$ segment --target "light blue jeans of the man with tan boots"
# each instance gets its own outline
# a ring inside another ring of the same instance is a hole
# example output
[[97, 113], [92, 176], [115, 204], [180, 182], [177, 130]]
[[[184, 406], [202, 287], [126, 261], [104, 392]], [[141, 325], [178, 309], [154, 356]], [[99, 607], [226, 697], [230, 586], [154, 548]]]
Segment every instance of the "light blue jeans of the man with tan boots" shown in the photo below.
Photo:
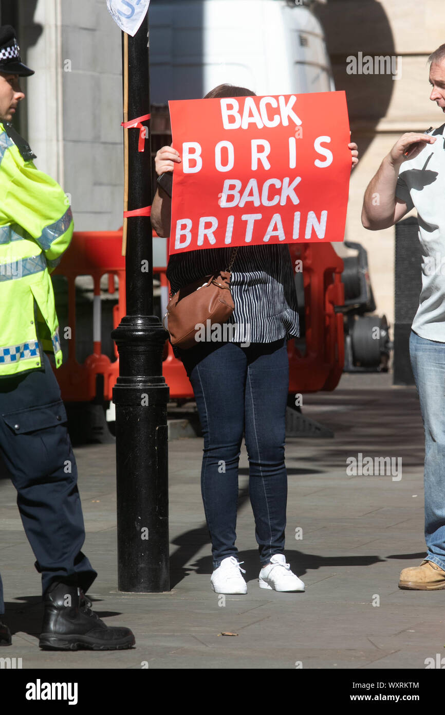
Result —
[[425, 428], [426, 558], [445, 570], [445, 343], [411, 330], [409, 354]]

